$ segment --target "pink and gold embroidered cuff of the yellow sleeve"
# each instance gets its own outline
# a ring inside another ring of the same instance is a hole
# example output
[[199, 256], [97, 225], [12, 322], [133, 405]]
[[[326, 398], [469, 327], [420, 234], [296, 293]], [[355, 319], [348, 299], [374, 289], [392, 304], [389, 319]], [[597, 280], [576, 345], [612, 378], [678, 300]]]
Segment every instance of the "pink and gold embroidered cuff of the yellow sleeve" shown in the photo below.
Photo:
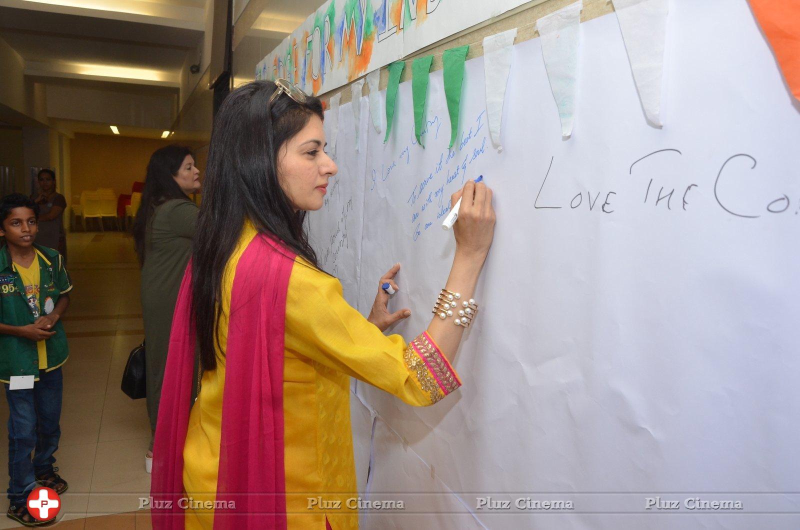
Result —
[[439, 351], [434, 339], [422, 332], [406, 347], [406, 367], [434, 404], [461, 386], [461, 379]]

